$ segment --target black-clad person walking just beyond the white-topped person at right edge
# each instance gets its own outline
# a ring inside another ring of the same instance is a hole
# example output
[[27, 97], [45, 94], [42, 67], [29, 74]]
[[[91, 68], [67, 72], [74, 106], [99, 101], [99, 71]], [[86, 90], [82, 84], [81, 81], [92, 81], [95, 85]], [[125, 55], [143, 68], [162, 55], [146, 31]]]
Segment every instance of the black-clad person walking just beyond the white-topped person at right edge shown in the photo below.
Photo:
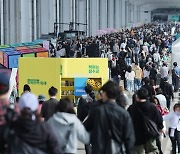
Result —
[[162, 87], [163, 95], [166, 97], [167, 108], [170, 109], [171, 98], [174, 99], [172, 85], [168, 83], [168, 77], [164, 78], [164, 84]]

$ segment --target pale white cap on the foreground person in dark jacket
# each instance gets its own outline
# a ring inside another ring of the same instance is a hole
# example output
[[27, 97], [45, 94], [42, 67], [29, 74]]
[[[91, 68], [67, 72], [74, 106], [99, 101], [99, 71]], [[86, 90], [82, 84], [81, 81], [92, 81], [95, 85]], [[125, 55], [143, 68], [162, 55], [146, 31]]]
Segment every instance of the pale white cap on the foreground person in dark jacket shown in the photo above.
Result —
[[36, 95], [27, 92], [24, 93], [19, 99], [19, 107], [21, 110], [24, 108], [29, 108], [31, 111], [36, 111], [38, 108], [39, 102]]

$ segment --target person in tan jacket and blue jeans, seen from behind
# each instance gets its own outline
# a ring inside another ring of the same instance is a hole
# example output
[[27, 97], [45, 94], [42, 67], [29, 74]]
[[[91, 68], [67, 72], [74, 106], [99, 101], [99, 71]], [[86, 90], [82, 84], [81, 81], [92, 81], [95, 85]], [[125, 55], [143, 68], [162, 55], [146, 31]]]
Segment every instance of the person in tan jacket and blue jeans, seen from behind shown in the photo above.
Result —
[[135, 72], [134, 91], [137, 91], [141, 88], [142, 81], [142, 69], [138, 66], [138, 63], [135, 63], [133, 71]]

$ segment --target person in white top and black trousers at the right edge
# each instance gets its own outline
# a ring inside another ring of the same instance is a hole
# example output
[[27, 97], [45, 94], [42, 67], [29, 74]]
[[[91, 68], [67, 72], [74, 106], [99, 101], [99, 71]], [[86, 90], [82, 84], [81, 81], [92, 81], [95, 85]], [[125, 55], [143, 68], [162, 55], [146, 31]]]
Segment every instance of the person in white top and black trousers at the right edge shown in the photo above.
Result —
[[169, 121], [169, 137], [172, 143], [172, 154], [176, 154], [176, 145], [180, 153], [180, 103], [174, 105], [174, 112], [163, 116], [163, 120]]

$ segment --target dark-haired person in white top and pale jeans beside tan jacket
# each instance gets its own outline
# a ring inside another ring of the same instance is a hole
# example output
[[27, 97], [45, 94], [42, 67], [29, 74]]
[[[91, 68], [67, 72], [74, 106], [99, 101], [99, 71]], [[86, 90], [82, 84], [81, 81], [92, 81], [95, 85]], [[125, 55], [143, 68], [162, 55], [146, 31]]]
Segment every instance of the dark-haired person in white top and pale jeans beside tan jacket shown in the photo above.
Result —
[[127, 81], [127, 89], [131, 94], [134, 89], [134, 78], [135, 78], [135, 73], [134, 71], [132, 71], [131, 66], [128, 66], [128, 70], [125, 73], [125, 78]]

